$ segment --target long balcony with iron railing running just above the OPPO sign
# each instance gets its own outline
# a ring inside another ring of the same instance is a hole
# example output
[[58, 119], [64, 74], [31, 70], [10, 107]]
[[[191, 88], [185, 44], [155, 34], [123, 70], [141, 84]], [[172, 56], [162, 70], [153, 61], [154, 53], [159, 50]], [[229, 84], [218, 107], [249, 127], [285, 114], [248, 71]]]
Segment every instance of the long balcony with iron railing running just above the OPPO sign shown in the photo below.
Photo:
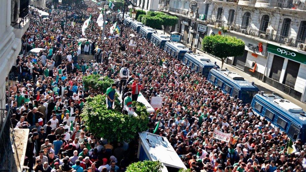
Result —
[[271, 33], [260, 31], [254, 28], [241, 27], [238, 25], [234, 25], [231, 28], [235, 32], [239, 32], [239, 33], [250, 35], [250, 36], [255, 36], [257, 38], [265, 39], [268, 41], [273, 41], [279, 44], [287, 45], [289, 47], [297, 48], [299, 50], [303, 50], [303, 51], [306, 50], [305, 49], [306, 42], [302, 40], [297, 40], [294, 38], [281, 36], [277, 34], [271, 34]]

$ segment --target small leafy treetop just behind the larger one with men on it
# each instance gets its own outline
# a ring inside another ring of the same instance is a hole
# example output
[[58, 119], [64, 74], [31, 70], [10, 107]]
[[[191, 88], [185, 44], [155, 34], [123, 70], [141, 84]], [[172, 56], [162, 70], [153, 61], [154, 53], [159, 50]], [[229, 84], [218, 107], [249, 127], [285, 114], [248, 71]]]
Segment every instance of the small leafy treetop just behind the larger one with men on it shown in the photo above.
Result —
[[114, 80], [100, 75], [83, 76], [82, 81], [86, 90], [93, 89], [98, 94], [105, 93], [107, 88], [114, 83]]

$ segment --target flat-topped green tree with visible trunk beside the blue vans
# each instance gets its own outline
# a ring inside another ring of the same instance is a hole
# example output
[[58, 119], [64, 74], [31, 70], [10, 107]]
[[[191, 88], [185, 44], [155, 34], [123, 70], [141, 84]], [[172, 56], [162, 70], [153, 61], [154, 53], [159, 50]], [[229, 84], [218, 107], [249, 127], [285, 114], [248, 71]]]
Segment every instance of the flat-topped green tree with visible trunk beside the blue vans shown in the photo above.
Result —
[[244, 48], [243, 40], [230, 35], [209, 35], [205, 36], [202, 41], [202, 50], [221, 59], [221, 69], [225, 58], [243, 55]]

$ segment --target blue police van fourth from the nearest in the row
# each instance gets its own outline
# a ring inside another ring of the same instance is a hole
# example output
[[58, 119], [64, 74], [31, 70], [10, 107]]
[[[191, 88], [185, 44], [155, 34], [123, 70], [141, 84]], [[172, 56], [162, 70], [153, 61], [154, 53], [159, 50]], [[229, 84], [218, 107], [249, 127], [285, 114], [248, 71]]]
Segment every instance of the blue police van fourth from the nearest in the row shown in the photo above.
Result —
[[183, 59], [185, 53], [191, 52], [185, 45], [172, 41], [165, 43], [164, 50], [179, 60]]

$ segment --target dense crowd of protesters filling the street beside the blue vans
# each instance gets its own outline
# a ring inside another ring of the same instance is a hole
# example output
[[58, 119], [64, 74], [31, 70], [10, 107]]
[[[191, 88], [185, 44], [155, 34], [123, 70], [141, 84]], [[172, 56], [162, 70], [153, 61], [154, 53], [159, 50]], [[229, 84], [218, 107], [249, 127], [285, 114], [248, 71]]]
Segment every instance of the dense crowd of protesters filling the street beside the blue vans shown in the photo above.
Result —
[[[113, 86], [132, 101], [137, 101], [140, 92], [148, 102], [152, 96], [163, 97], [162, 107], [148, 117], [148, 131], [153, 133], [159, 125], [156, 134], [169, 140], [192, 172], [304, 171], [306, 147], [300, 139], [294, 142], [296, 152], [288, 154], [287, 134], [253, 114], [250, 104], [224, 93], [129, 27], [121, 28], [122, 37], [110, 34], [108, 28], [121, 22], [116, 13], [107, 15], [107, 39], [101, 41], [95, 23], [98, 6], [85, 2], [71, 5], [67, 18], [58, 4], [46, 5], [49, 19], [30, 9], [22, 54], [9, 76], [17, 83], [7, 91], [13, 127], [30, 129], [29, 171], [121, 172], [137, 161], [137, 139], [108, 142], [84, 125], [80, 113], [85, 98], [97, 95], [82, 83], [82, 77], [91, 74], [114, 79]], [[93, 22], [83, 36], [88, 9], [94, 9]], [[80, 38], [84, 39], [79, 45]], [[136, 46], [128, 46], [131, 39]], [[28, 53], [33, 48], [44, 50]], [[80, 53], [94, 58], [80, 59]], [[214, 129], [231, 133], [229, 142], [214, 139]]]

